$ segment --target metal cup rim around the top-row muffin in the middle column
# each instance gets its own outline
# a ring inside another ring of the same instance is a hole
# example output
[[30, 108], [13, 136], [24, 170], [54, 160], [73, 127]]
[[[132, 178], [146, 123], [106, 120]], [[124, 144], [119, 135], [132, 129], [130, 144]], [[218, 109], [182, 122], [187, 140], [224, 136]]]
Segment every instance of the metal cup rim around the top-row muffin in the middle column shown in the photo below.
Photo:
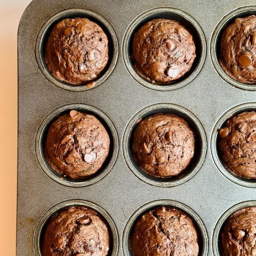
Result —
[[[188, 71], [183, 77], [171, 83], [154, 84], [146, 80], [137, 72], [132, 60], [132, 44], [135, 32], [146, 22], [156, 18], [176, 20], [191, 32], [195, 40], [197, 57], [193, 63], [193, 66], [191, 67], [190, 71]], [[185, 86], [198, 75], [205, 60], [206, 41], [201, 27], [194, 18], [181, 10], [161, 7], [148, 10], [133, 20], [132, 24], [125, 32], [122, 51], [123, 60], [127, 70], [135, 80], [142, 84], [142, 86], [158, 91], [170, 91]]]

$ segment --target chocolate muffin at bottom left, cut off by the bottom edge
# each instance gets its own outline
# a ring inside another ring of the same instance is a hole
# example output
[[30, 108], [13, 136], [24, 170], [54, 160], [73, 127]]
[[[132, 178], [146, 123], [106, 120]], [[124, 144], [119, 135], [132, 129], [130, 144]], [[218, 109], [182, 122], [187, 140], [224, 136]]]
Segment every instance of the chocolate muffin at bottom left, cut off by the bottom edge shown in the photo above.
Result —
[[86, 207], [68, 207], [55, 214], [42, 236], [44, 256], [105, 256], [110, 234], [104, 220]]

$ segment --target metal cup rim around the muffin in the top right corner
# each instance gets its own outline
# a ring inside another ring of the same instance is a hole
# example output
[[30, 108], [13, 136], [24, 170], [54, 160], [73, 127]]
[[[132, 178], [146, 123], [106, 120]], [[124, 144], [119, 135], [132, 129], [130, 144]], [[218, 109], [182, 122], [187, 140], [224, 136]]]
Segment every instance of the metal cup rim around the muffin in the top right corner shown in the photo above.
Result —
[[211, 44], [210, 44], [210, 54], [211, 54], [211, 60], [214, 63], [214, 67], [219, 73], [219, 75], [225, 79], [228, 83], [230, 83], [232, 86], [235, 86], [237, 88], [247, 90], [247, 91], [255, 91], [256, 90], [256, 83], [242, 83], [237, 80], [234, 80], [231, 78], [221, 67], [220, 61], [219, 61], [219, 47], [220, 47], [220, 39], [223, 30], [233, 22], [234, 19], [238, 17], [246, 17], [249, 15], [256, 15], [256, 6], [245, 6], [242, 8], [239, 8], [237, 10], [234, 10], [227, 14], [221, 22], [217, 25], [214, 34], [212, 34], [211, 38]]

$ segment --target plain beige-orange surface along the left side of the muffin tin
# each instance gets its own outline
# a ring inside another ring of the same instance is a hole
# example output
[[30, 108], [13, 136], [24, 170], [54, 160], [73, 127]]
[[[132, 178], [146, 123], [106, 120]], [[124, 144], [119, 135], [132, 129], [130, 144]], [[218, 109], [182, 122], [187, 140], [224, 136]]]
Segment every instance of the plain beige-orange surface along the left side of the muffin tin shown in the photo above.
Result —
[[0, 255], [15, 255], [17, 180], [17, 29], [30, 0], [0, 0]]

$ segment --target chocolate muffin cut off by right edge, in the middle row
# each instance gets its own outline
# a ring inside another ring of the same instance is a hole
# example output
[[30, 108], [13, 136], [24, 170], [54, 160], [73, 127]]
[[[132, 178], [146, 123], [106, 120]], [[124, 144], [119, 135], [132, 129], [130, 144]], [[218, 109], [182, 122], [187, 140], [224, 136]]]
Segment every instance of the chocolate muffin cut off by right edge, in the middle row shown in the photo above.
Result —
[[256, 178], [256, 113], [243, 112], [227, 120], [219, 130], [219, 155], [229, 171]]

